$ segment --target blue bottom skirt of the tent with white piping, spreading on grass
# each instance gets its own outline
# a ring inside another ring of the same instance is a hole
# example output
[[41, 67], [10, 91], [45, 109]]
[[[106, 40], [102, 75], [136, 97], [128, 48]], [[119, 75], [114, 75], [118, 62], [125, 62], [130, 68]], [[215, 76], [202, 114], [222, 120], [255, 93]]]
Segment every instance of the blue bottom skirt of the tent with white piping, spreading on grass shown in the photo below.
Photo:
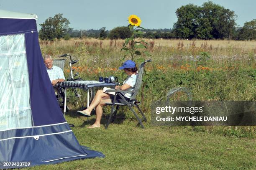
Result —
[[34, 166], [104, 157], [101, 152], [80, 146], [67, 123], [7, 130], [1, 140], [0, 168], [13, 168], [4, 166], [4, 162], [29, 162]]

